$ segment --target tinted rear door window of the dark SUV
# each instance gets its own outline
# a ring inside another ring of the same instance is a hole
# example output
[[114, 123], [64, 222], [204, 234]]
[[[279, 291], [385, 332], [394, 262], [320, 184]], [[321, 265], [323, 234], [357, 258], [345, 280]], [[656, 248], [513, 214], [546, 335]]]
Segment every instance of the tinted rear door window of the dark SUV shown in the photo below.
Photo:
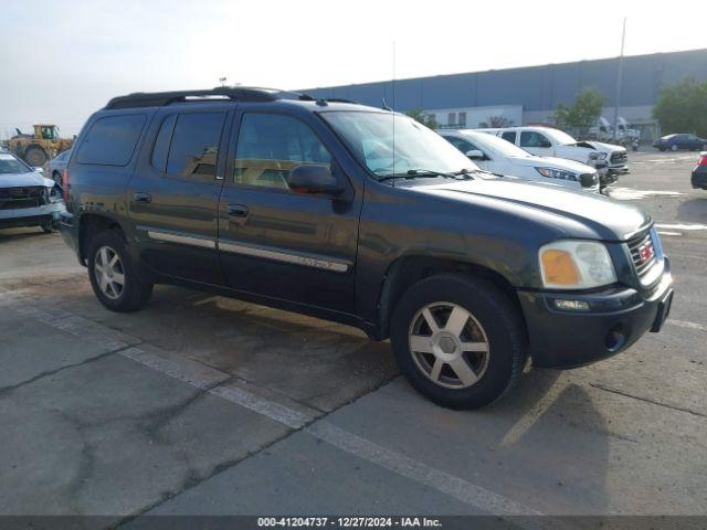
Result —
[[169, 147], [167, 174], [215, 176], [224, 118], [224, 113], [180, 114]]

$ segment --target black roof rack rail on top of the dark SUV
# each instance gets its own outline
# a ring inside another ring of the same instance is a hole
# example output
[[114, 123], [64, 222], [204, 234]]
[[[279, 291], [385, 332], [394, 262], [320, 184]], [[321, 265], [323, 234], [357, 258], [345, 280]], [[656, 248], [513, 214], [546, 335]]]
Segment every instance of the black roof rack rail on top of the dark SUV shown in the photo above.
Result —
[[127, 96], [117, 96], [108, 102], [106, 109], [131, 107], [162, 107], [178, 102], [186, 102], [190, 97], [204, 98], [224, 97], [238, 102], [274, 102], [278, 99], [278, 91], [251, 87], [217, 87], [201, 91], [177, 92], [136, 92]]

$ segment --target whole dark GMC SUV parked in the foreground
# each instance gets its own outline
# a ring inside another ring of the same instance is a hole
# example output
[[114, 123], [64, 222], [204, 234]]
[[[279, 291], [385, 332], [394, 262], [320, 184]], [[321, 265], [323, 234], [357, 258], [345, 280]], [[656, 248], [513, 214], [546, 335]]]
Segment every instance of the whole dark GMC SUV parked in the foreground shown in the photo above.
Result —
[[62, 232], [108, 309], [170, 283], [348, 324], [454, 407], [502, 396], [528, 356], [576, 367], [659, 330], [672, 278], [646, 214], [468, 166], [352, 103], [133, 94], [84, 126]]

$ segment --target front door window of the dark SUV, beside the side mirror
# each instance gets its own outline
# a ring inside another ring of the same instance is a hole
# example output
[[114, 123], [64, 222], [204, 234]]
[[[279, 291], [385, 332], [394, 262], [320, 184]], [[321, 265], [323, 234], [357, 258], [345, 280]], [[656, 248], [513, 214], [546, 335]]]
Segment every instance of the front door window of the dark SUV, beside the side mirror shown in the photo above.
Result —
[[243, 115], [233, 165], [235, 184], [288, 190], [287, 174], [305, 163], [331, 165], [331, 155], [307, 125], [278, 114]]

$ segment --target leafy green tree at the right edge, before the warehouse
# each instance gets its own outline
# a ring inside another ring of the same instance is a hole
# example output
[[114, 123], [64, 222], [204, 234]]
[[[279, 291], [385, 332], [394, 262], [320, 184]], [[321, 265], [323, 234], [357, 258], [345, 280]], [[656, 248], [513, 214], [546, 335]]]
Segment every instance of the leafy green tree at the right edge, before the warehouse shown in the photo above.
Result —
[[693, 132], [707, 136], [707, 82], [685, 78], [661, 89], [653, 117], [664, 135]]

